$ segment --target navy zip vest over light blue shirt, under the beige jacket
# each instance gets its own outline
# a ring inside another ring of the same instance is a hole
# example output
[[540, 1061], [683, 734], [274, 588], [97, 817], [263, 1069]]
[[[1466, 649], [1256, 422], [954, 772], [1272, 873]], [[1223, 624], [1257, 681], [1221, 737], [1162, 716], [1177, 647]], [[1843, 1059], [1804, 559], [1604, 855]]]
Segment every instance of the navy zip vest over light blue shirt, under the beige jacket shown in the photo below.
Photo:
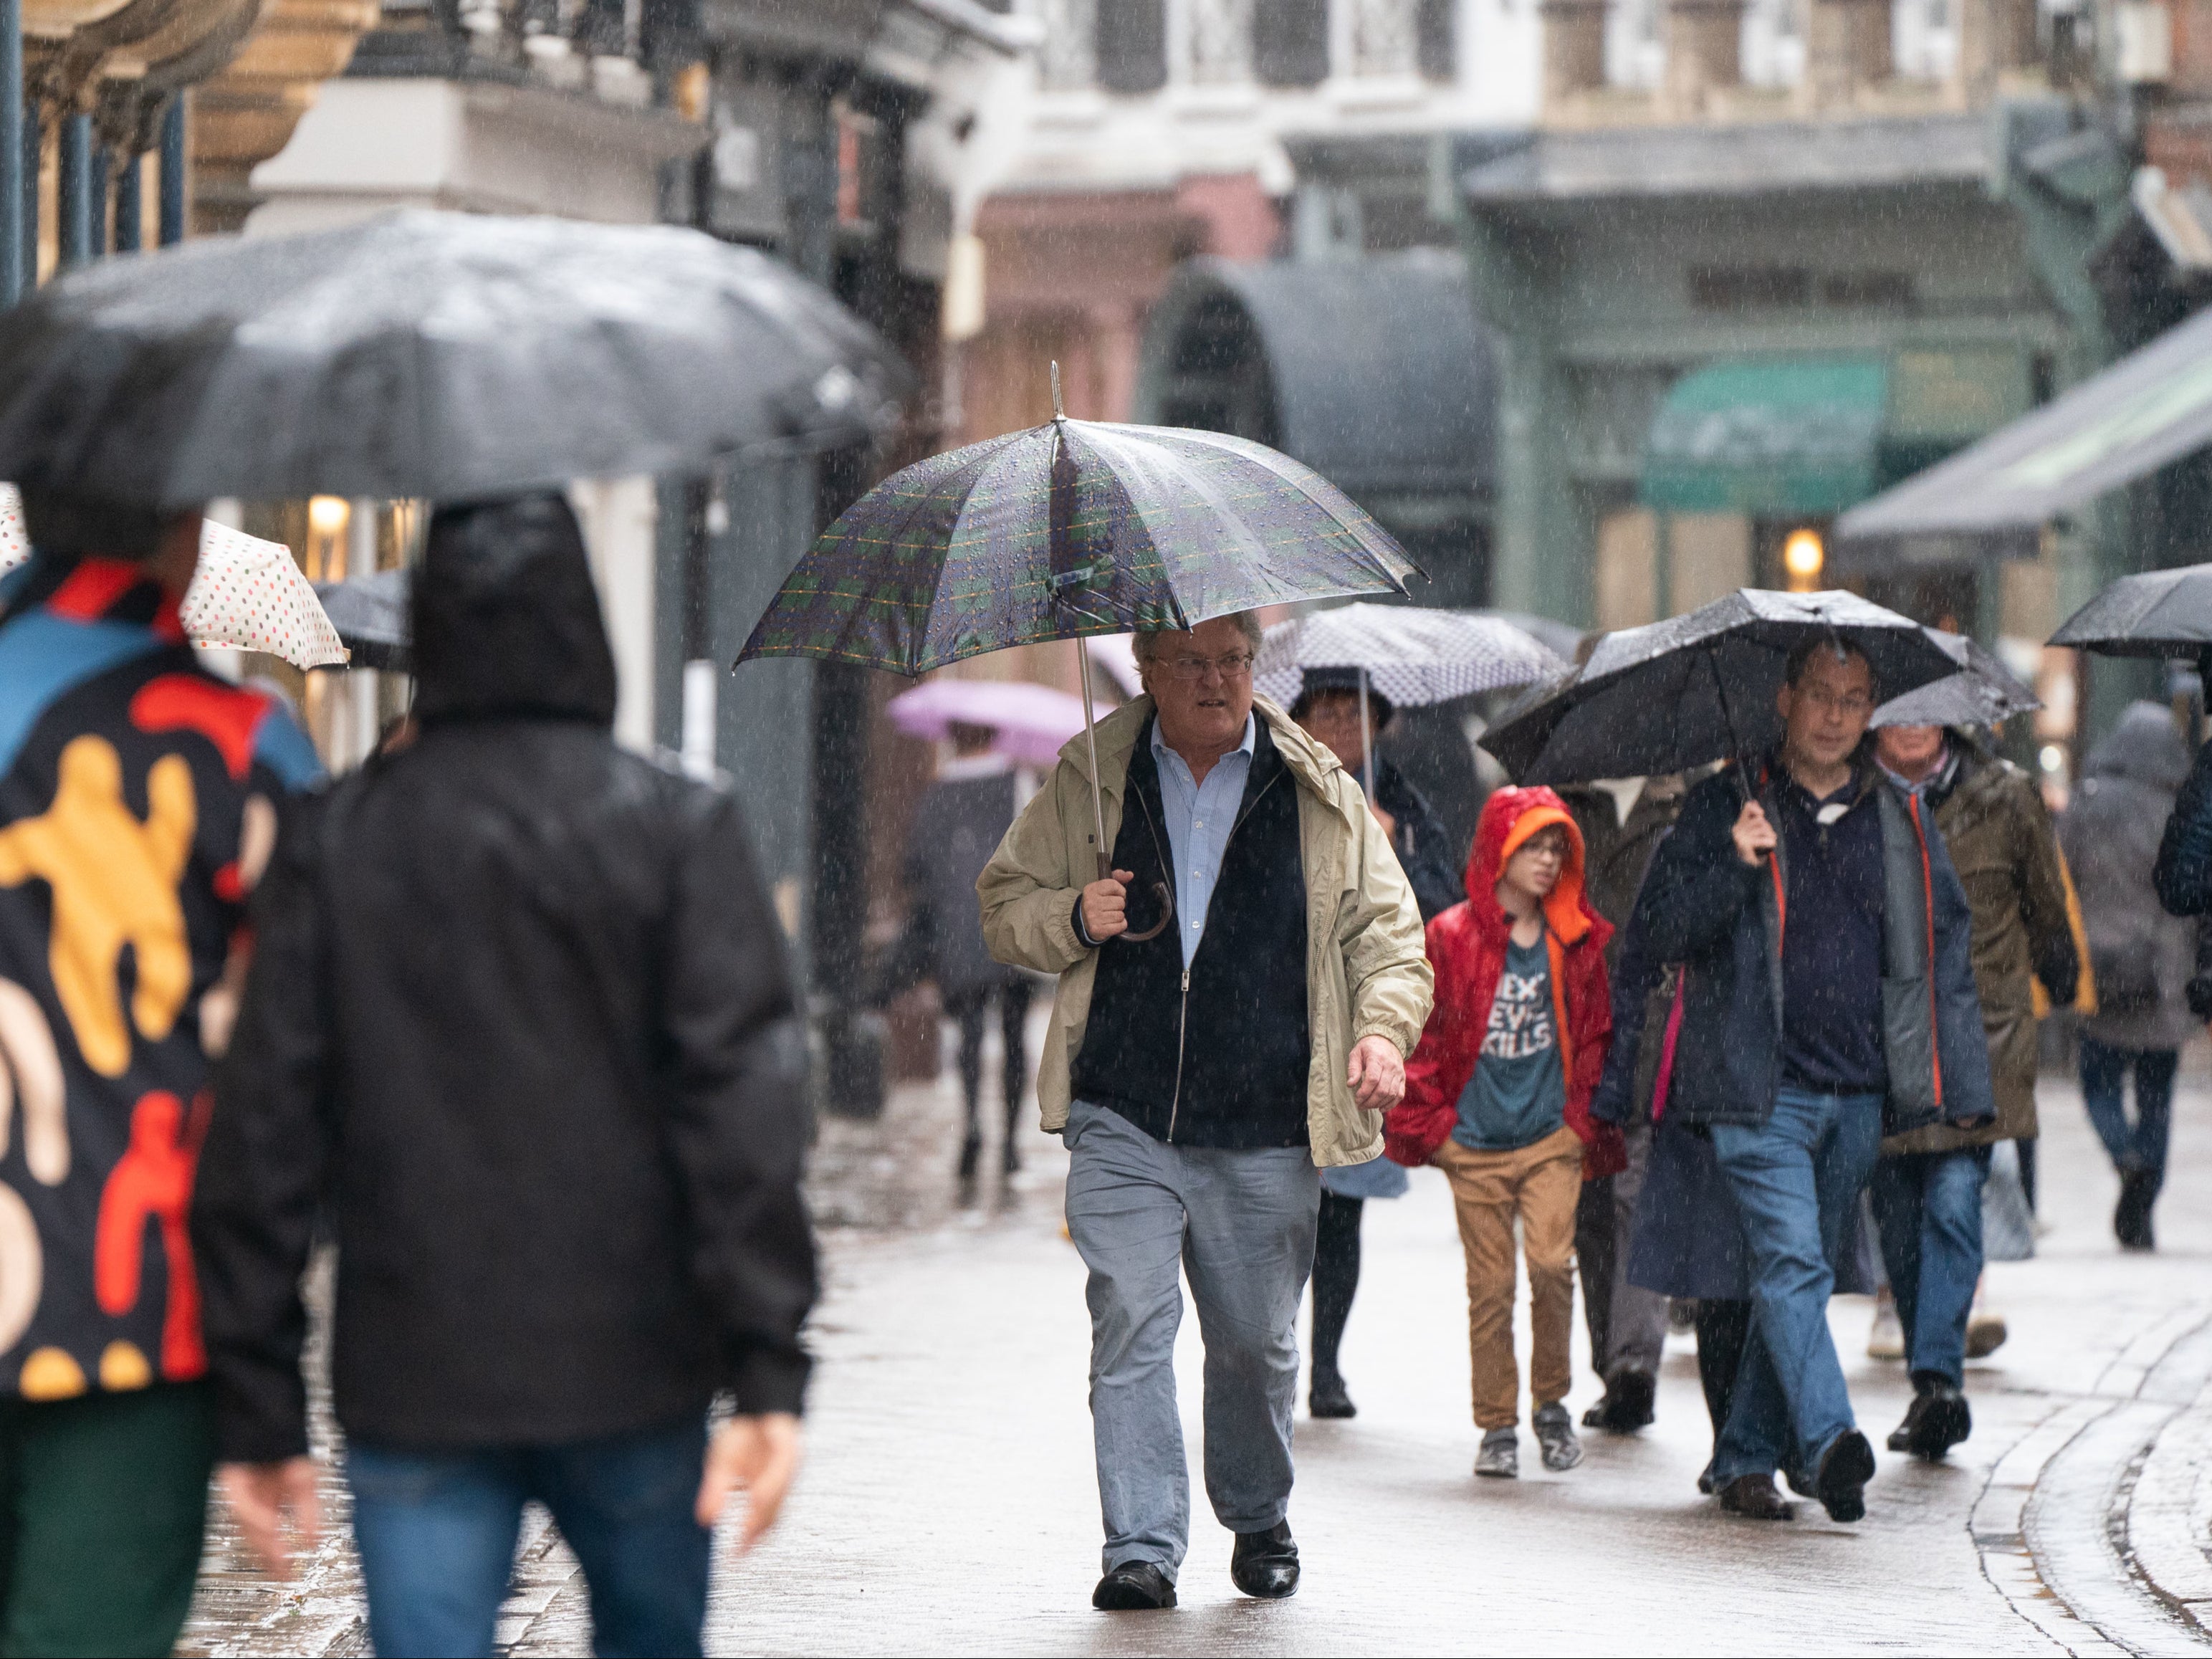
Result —
[[[1150, 927], [1152, 883], [1175, 889], [1150, 721], [1128, 761], [1113, 860], [1137, 876], [1130, 922]], [[1298, 783], [1261, 721], [1190, 989], [1175, 927], [1099, 947], [1075, 1095], [1175, 1146], [1305, 1146], [1310, 1051]]]

